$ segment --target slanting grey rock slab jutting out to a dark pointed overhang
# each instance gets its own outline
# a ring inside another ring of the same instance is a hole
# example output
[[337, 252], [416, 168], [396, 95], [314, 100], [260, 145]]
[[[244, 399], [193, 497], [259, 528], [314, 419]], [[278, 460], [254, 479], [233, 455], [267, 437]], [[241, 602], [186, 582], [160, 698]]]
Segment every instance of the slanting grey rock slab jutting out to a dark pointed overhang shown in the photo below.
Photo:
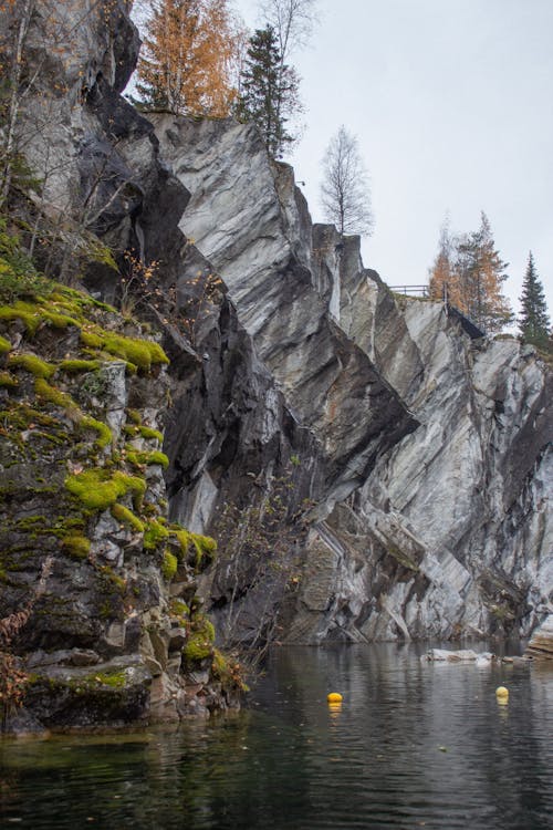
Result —
[[314, 289], [311, 222], [291, 169], [269, 160], [252, 126], [153, 121], [191, 194], [182, 231], [223, 278], [259, 357], [320, 440], [327, 497], [343, 498], [414, 424]]

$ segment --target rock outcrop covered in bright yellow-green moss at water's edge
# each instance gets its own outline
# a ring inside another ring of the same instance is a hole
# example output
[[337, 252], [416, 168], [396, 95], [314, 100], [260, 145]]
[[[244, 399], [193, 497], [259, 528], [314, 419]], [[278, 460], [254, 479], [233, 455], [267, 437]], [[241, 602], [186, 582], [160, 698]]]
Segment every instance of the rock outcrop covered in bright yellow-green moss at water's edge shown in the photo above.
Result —
[[[139, 324], [23, 255], [18, 270], [14, 249], [2, 260], [2, 239], [0, 221], [0, 620], [30, 610], [15, 655], [24, 705], [43, 727], [139, 719], [146, 655], [163, 666], [161, 699], [185, 710], [187, 671], [207, 658], [215, 677], [195, 572], [216, 543], [167, 521], [167, 357]], [[170, 583], [186, 599], [178, 618]], [[92, 671], [52, 656], [92, 652]]]

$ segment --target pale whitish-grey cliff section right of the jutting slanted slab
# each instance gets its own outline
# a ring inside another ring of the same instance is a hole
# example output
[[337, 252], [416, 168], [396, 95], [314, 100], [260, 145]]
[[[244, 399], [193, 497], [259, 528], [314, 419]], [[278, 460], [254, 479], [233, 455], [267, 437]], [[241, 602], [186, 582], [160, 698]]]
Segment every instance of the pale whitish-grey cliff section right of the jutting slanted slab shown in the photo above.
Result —
[[341, 324], [419, 422], [324, 530], [356, 552], [335, 582], [349, 635], [528, 635], [551, 603], [551, 372], [514, 339], [471, 341], [440, 303], [394, 298], [355, 239], [340, 261], [332, 229], [315, 229], [325, 251], [322, 239]]

